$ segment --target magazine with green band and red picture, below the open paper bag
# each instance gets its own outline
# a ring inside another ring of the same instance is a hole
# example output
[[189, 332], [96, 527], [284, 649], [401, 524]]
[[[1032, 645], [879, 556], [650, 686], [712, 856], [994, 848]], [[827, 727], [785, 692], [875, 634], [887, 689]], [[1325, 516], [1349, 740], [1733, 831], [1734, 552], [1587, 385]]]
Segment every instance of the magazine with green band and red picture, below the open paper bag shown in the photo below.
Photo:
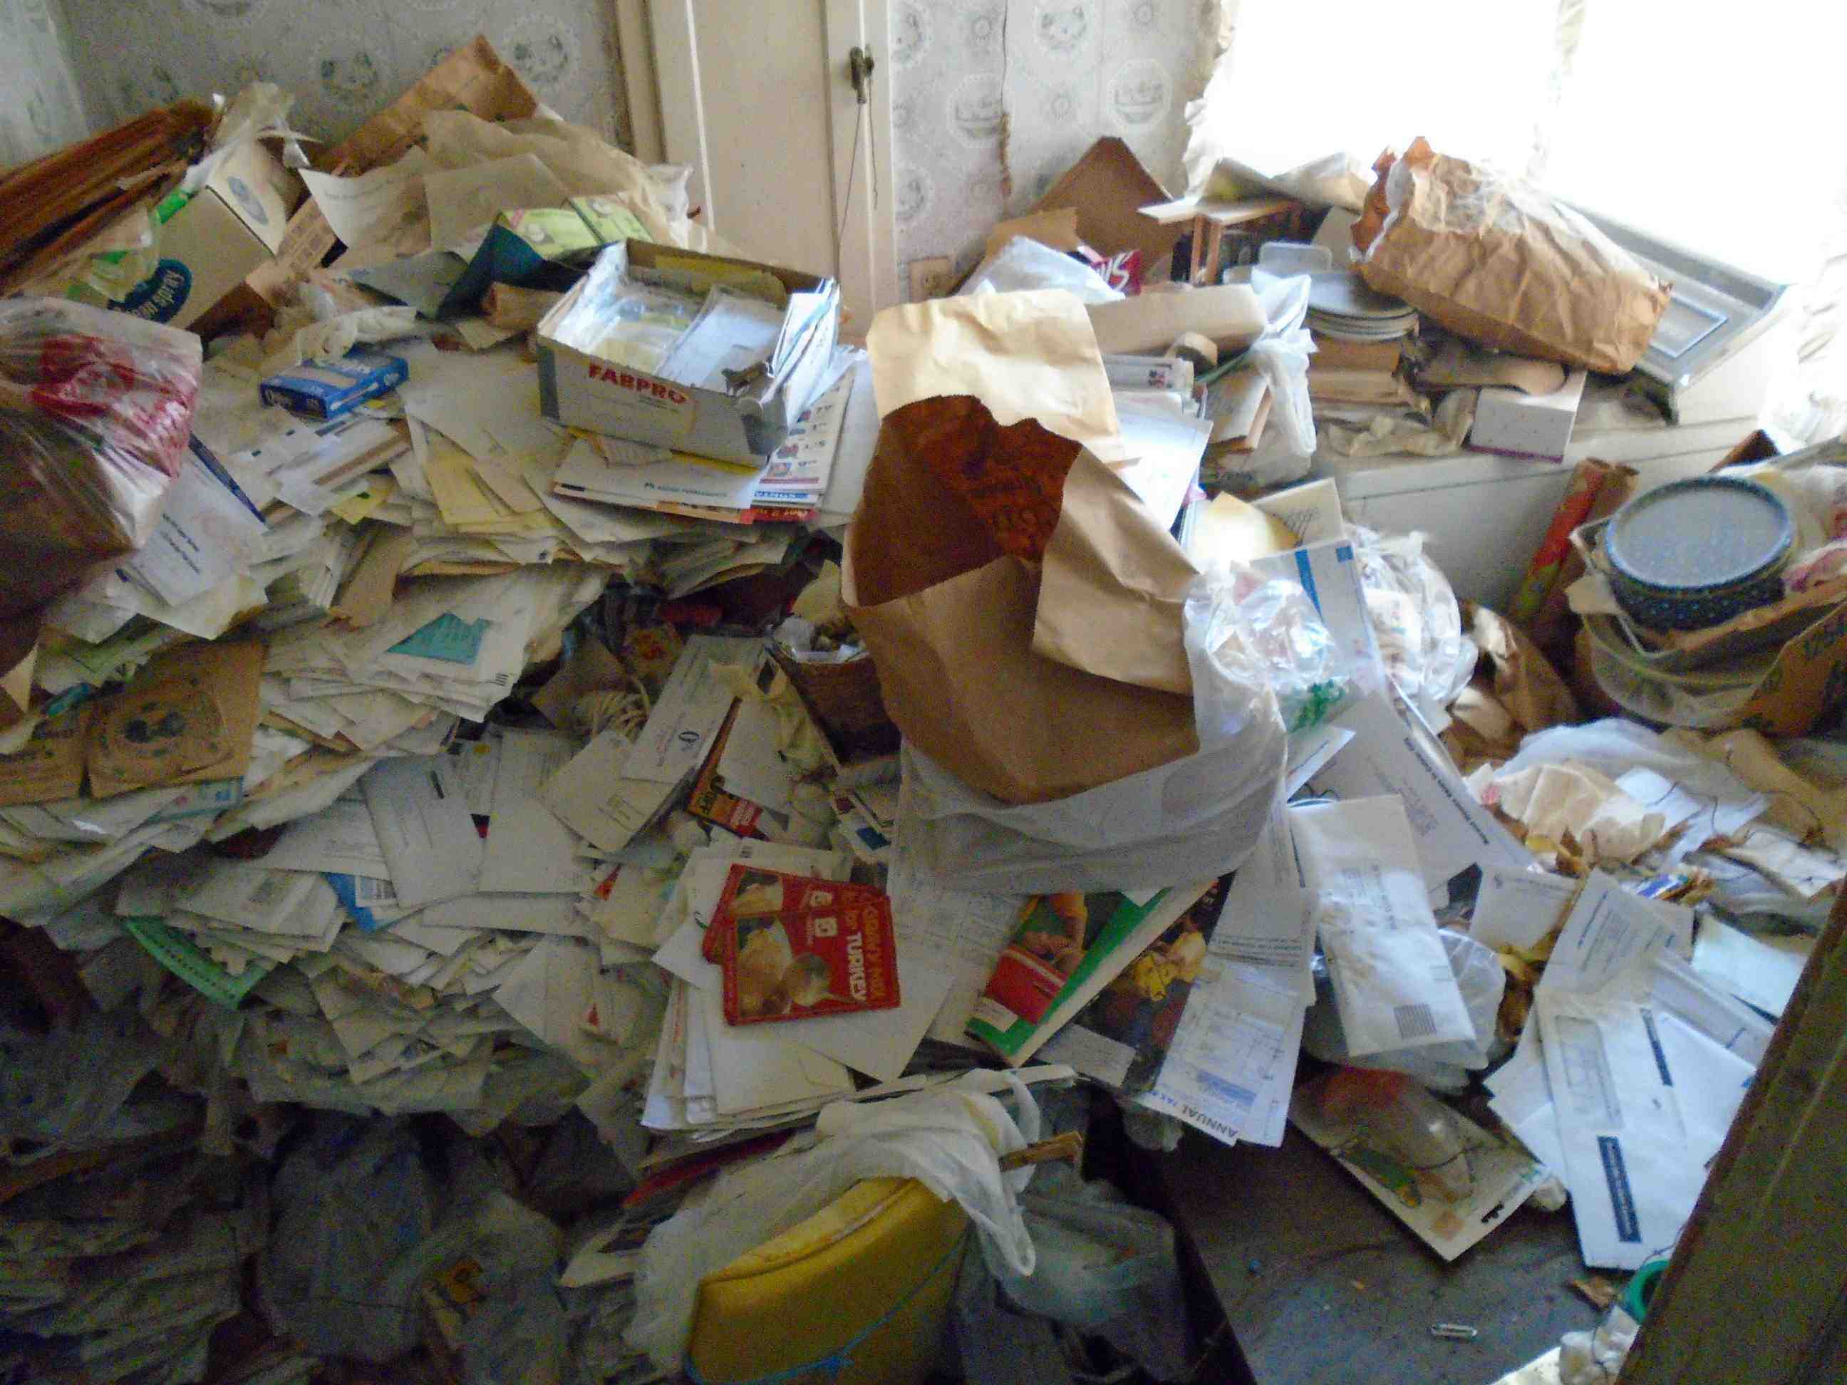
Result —
[[1213, 885], [1177, 885], [1151, 897], [1032, 896], [975, 1003], [970, 1038], [1023, 1064]]

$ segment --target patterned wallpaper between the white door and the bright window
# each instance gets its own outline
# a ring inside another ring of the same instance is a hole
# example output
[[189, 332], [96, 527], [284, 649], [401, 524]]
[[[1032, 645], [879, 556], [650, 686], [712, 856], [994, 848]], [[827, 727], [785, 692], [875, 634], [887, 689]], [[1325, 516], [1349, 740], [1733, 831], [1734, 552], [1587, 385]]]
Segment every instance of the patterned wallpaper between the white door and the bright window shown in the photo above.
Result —
[[911, 260], [973, 266], [994, 222], [1031, 207], [1099, 135], [1121, 135], [1184, 192], [1186, 102], [1219, 0], [890, 4], [901, 292]]

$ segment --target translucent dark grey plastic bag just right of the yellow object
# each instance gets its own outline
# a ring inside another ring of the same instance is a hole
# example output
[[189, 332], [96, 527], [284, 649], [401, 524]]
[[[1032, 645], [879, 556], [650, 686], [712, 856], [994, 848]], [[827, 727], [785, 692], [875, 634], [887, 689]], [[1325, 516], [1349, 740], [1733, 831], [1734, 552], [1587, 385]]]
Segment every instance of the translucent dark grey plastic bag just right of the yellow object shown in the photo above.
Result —
[[1186, 1298], [1167, 1219], [1127, 1206], [1108, 1184], [1079, 1184], [1069, 1171], [1020, 1202], [1038, 1267], [1029, 1276], [996, 1274], [1005, 1295], [1029, 1313], [1103, 1337], [1154, 1379], [1186, 1376]]

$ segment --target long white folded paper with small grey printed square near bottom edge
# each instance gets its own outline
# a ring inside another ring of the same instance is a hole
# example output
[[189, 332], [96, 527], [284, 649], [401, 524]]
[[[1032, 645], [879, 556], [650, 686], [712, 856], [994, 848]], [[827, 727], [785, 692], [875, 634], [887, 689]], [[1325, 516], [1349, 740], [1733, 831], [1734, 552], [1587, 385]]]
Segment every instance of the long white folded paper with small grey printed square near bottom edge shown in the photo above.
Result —
[[1398, 798], [1291, 809], [1289, 824], [1354, 1056], [1472, 1042]]

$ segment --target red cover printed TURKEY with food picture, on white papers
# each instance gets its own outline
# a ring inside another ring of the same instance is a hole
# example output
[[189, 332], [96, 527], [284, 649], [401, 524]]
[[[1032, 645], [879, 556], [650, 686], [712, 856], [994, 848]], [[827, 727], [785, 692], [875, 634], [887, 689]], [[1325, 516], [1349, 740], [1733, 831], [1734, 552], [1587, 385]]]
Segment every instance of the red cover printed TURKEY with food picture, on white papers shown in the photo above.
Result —
[[[759, 879], [746, 879], [752, 875]], [[898, 1005], [892, 901], [885, 894], [754, 866], [731, 866], [724, 888], [706, 936], [717, 934], [722, 949], [726, 1023]], [[779, 909], [768, 909], [772, 897], [779, 897]]]

